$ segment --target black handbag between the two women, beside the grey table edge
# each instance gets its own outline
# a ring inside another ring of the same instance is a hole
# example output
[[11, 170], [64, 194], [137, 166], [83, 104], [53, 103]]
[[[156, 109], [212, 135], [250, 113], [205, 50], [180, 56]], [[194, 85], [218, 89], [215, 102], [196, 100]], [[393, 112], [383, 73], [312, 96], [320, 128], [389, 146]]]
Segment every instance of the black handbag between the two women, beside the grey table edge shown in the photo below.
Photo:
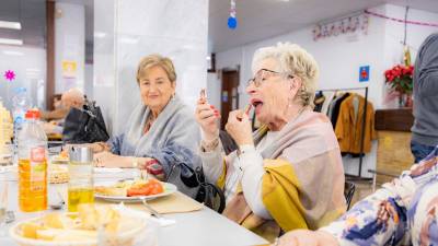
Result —
[[226, 208], [223, 191], [214, 184], [207, 183], [201, 167], [193, 169], [181, 162], [173, 164], [168, 183], [174, 184], [178, 191], [221, 213]]

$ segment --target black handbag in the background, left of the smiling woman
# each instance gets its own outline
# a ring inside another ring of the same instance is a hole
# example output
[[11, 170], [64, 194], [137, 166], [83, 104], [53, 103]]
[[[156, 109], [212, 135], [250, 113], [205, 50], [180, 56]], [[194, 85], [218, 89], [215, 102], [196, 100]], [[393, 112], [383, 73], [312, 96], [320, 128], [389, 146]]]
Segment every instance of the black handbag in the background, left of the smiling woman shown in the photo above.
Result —
[[100, 107], [85, 101], [81, 108], [72, 107], [66, 117], [62, 141], [66, 143], [105, 142], [110, 139]]

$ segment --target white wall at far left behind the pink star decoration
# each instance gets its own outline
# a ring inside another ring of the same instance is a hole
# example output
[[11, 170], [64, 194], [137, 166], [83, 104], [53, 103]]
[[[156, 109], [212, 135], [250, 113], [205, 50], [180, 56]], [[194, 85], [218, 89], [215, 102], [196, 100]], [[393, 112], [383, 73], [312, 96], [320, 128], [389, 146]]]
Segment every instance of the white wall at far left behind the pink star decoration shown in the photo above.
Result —
[[[15, 80], [9, 81], [4, 72], [15, 72]], [[0, 97], [9, 109], [16, 87], [26, 87], [32, 106], [45, 108], [46, 95], [46, 50], [21, 46], [0, 45]]]

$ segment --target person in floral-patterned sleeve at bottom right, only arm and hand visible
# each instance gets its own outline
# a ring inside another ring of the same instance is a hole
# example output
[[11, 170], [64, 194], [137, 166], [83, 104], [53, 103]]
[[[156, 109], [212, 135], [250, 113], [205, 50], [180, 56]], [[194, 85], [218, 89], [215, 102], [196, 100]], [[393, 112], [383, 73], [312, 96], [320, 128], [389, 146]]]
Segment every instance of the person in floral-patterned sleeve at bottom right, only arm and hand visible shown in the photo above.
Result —
[[437, 177], [438, 147], [338, 221], [315, 232], [289, 232], [275, 245], [438, 245]]

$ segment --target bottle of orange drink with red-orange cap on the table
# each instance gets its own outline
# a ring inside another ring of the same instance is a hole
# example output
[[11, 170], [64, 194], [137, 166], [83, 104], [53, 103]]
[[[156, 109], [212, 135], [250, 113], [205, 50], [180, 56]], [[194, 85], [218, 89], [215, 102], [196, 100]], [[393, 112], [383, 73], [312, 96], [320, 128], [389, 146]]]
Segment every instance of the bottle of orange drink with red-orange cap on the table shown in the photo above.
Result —
[[30, 109], [19, 132], [19, 207], [23, 212], [47, 209], [47, 137], [39, 112]]

